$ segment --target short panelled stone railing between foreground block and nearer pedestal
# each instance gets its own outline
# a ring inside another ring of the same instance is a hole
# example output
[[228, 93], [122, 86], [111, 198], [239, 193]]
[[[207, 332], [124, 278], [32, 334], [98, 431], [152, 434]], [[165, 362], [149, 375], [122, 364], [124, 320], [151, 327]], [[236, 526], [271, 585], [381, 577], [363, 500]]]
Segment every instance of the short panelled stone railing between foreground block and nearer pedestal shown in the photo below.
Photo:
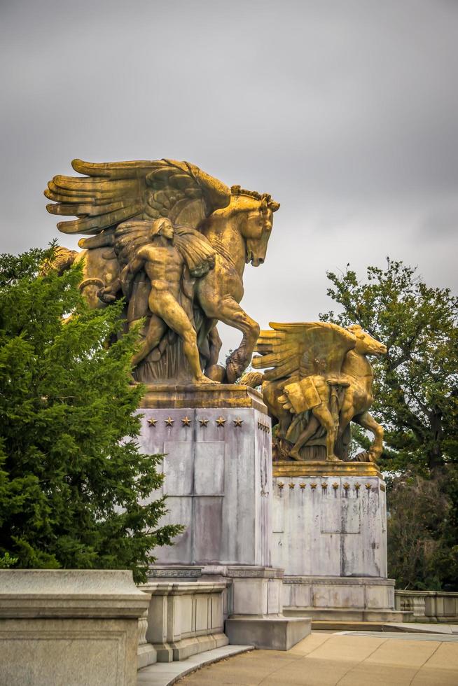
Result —
[[158, 662], [183, 660], [228, 645], [223, 615], [226, 585], [225, 582], [154, 582], [139, 586], [151, 594], [144, 641], [153, 646]]

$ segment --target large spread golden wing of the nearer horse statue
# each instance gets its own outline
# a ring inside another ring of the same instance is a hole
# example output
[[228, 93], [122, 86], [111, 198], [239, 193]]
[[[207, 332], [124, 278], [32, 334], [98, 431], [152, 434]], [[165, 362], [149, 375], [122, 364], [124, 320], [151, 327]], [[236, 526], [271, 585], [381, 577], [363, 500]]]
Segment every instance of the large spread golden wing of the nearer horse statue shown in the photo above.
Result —
[[230, 201], [228, 186], [189, 162], [74, 160], [71, 166], [85, 176], [54, 176], [45, 190], [56, 203], [48, 212], [78, 217], [57, 224], [64, 233], [98, 234], [127, 220], [160, 217], [197, 228]]

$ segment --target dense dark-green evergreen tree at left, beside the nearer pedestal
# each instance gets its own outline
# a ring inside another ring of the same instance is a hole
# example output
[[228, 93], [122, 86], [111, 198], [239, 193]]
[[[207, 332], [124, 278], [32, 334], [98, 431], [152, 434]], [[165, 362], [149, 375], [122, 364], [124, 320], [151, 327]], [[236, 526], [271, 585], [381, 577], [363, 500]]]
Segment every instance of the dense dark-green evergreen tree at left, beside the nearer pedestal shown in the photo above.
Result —
[[135, 438], [137, 332], [117, 336], [122, 304], [85, 306], [81, 267], [40, 273], [53, 254], [0, 255], [0, 559], [142, 580], [181, 527], [158, 526], [160, 456]]

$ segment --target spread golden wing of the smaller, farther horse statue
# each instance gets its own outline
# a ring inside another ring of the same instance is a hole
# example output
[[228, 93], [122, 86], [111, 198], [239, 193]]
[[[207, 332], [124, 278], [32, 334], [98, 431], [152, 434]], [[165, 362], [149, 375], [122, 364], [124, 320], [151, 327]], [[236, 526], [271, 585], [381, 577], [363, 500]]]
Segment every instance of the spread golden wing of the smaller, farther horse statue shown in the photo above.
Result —
[[270, 322], [261, 331], [252, 365], [266, 369], [265, 379], [275, 381], [298, 375], [340, 372], [345, 355], [356, 345], [356, 336], [336, 324], [312, 321], [293, 324]]

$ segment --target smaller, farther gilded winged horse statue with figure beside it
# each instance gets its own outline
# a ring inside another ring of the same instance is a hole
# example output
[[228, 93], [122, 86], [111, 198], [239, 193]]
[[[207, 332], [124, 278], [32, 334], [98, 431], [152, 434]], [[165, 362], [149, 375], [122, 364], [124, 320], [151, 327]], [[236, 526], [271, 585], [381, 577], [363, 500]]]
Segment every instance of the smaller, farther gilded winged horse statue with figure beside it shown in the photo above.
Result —
[[[257, 369], [242, 383], [262, 384], [274, 423], [277, 449], [296, 461], [346, 458], [349, 424], [359, 423], [374, 435], [369, 451], [357, 456], [376, 462], [382, 452], [383, 428], [370, 415], [373, 371], [368, 355], [383, 355], [384, 344], [358, 325], [270, 323], [261, 331], [252, 360]], [[347, 440], [345, 441], [345, 434]]]

